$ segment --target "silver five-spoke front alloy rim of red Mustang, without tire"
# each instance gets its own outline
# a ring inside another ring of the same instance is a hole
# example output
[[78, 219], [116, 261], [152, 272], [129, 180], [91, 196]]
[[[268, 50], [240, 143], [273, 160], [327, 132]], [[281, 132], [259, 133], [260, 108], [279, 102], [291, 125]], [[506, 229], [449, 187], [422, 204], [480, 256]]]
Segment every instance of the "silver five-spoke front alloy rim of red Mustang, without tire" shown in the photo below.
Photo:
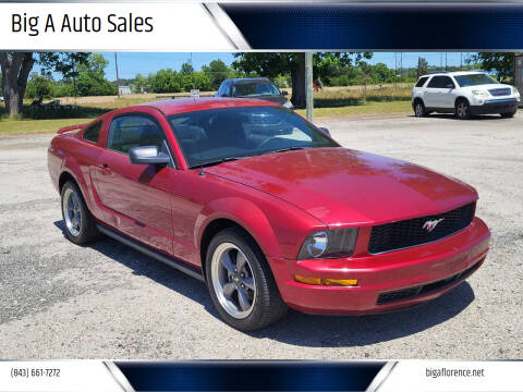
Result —
[[236, 245], [218, 245], [211, 260], [212, 289], [221, 307], [236, 319], [253, 311], [256, 302], [253, 271], [250, 260]]

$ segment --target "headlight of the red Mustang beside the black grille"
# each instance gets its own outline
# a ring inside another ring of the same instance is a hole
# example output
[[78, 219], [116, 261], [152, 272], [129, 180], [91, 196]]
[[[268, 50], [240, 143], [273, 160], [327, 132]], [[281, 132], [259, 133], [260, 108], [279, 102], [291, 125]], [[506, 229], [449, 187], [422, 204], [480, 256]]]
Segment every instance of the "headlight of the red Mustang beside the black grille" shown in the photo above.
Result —
[[354, 250], [356, 237], [357, 228], [315, 232], [303, 242], [297, 259], [349, 257]]

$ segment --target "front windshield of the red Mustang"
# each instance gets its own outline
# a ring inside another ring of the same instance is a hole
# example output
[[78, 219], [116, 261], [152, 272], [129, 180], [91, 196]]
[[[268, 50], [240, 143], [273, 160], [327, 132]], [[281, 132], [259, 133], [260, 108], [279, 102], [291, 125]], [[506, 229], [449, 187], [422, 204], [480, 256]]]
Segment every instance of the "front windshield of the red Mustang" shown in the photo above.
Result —
[[276, 151], [339, 147], [284, 108], [211, 109], [174, 114], [168, 120], [191, 169]]

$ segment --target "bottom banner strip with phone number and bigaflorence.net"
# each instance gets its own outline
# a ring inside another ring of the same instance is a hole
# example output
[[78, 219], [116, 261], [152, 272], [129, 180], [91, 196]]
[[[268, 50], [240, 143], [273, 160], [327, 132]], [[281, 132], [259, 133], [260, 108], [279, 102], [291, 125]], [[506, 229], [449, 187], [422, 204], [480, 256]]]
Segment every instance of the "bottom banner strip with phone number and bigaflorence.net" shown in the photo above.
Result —
[[523, 362], [0, 362], [0, 392], [522, 392]]

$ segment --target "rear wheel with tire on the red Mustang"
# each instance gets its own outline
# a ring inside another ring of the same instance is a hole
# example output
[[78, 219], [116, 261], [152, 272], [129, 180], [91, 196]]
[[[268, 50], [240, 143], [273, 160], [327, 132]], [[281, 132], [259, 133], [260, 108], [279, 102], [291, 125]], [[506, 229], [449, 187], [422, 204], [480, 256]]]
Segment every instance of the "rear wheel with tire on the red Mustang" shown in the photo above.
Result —
[[68, 181], [62, 187], [62, 218], [65, 236], [76, 245], [85, 245], [100, 236], [78, 186]]

